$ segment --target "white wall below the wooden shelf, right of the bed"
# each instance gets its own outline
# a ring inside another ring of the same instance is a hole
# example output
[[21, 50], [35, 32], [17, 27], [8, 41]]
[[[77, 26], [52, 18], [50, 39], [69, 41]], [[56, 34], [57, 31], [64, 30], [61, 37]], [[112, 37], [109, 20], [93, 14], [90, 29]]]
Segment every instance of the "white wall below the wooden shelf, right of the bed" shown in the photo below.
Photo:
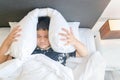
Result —
[[95, 37], [96, 48], [101, 52], [105, 60], [107, 61], [107, 66], [118, 67], [120, 60], [120, 39], [106, 39], [101, 40], [100, 34]]

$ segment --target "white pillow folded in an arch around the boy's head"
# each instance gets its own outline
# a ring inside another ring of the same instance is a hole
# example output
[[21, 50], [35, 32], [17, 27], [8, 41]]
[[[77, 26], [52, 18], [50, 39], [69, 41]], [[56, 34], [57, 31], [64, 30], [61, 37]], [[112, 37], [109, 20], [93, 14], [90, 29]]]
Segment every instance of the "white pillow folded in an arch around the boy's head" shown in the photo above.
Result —
[[[11, 56], [17, 58], [24, 58], [30, 55], [36, 47], [36, 27], [38, 22], [38, 17], [49, 16], [50, 20], [50, 43], [52, 48], [56, 52], [69, 53], [73, 52], [75, 49], [73, 46], [65, 46], [65, 42], [61, 41], [61, 36], [59, 33], [62, 31], [61, 28], [64, 27], [69, 30], [68, 23], [64, 17], [56, 10], [50, 8], [34, 9], [30, 11], [17, 25], [22, 28], [21, 36], [18, 41], [13, 43], [11, 46]], [[16, 25], [16, 26], [17, 26]]]

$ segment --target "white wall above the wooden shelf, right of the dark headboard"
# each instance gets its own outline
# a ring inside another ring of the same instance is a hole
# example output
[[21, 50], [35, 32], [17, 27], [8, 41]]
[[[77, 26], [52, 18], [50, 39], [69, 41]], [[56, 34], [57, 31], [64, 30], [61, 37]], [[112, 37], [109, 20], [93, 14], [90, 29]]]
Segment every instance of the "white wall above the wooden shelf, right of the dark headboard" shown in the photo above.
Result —
[[92, 31], [94, 34], [97, 34], [101, 26], [108, 19], [120, 19], [120, 0], [111, 0], [94, 27]]

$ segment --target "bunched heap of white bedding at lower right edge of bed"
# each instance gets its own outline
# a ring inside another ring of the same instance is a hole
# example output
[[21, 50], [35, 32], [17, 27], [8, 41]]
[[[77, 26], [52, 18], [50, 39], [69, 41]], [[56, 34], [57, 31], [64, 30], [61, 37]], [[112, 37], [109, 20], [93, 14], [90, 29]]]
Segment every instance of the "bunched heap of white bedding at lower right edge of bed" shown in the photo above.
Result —
[[75, 80], [104, 80], [105, 62], [99, 52], [86, 58], [73, 58], [68, 62], [67, 66], [72, 68]]

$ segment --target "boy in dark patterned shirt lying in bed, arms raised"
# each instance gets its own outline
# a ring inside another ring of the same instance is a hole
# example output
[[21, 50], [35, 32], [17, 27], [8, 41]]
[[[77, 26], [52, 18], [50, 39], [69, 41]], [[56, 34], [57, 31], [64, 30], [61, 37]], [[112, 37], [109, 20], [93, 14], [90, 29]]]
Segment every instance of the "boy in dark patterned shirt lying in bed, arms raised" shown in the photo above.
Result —
[[[66, 37], [62, 38], [62, 41], [66, 41], [65, 45], [73, 45], [76, 51], [66, 54], [66, 53], [58, 53], [55, 52], [49, 43], [48, 39], [48, 30], [49, 30], [49, 17], [40, 17], [38, 24], [37, 24], [37, 47], [33, 51], [32, 54], [44, 54], [51, 59], [60, 62], [61, 64], [65, 65], [67, 57], [75, 57], [77, 56], [87, 56], [88, 52], [86, 47], [79, 42], [73, 35], [72, 30], [70, 32], [66, 29], [62, 29], [67, 34], [60, 33], [61, 36]], [[13, 31], [8, 35], [6, 40], [3, 42], [0, 48], [0, 62], [5, 62], [8, 59], [11, 59], [9, 55], [4, 55], [7, 50], [9, 49], [12, 42], [17, 41], [16, 37], [19, 37], [18, 34], [21, 31], [19, 27], [13, 29]]]

